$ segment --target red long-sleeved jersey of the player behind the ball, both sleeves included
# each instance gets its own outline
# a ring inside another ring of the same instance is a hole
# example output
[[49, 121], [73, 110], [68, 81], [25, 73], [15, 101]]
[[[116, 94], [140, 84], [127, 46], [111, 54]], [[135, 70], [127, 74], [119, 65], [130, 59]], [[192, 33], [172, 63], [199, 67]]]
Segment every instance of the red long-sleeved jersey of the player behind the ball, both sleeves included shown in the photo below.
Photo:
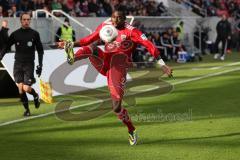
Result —
[[[100, 39], [99, 32], [105, 25], [112, 24], [112, 22], [101, 23], [95, 32], [87, 37], [80, 40], [80, 46], [87, 46]], [[104, 54], [113, 55], [114, 53], [124, 53], [131, 60], [131, 54], [136, 49], [136, 45], [141, 44], [155, 57], [157, 58], [160, 54], [154, 44], [147, 39], [147, 37], [138, 29], [134, 28], [130, 24], [125, 22], [125, 26], [122, 29], [118, 29], [118, 36], [114, 42], [106, 43]], [[106, 56], [105, 55], [105, 56]]]

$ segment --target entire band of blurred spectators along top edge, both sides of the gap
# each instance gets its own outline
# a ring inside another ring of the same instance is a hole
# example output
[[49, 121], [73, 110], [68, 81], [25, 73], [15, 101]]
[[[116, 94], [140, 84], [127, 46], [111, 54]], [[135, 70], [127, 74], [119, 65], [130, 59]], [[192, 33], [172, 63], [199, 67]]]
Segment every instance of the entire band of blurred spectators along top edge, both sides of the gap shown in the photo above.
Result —
[[[174, 0], [202, 16], [240, 18], [240, 0]], [[16, 8], [14, 8], [15, 6]], [[167, 12], [162, 2], [155, 0], [1, 0], [0, 17], [19, 16], [36, 9], [61, 9], [72, 16], [111, 16], [116, 7], [133, 16], [161, 16]], [[13, 16], [14, 15], [14, 16]], [[60, 16], [60, 14], [57, 14]]]

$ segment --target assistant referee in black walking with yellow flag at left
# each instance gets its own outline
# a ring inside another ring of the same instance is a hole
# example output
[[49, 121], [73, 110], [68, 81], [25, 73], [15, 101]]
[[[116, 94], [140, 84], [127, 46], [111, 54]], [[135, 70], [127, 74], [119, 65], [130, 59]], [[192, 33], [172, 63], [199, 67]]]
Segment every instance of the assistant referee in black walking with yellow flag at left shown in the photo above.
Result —
[[13, 75], [18, 86], [21, 102], [25, 108], [24, 116], [31, 115], [26, 93], [33, 96], [35, 108], [40, 106], [39, 96], [31, 85], [36, 82], [34, 78], [35, 50], [37, 49], [38, 52], [39, 65], [36, 69], [38, 77], [40, 77], [42, 72], [44, 53], [39, 33], [30, 28], [30, 20], [31, 17], [28, 13], [23, 13], [20, 16], [21, 28], [9, 36], [6, 47], [0, 53], [0, 60], [2, 60], [6, 52], [15, 44], [16, 54]]

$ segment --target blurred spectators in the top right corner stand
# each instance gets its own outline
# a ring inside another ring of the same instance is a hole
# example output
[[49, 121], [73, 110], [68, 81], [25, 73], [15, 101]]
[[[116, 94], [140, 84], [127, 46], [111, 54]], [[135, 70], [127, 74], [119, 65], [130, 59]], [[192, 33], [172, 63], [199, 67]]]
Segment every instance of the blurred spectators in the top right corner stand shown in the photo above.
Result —
[[222, 16], [223, 14], [240, 19], [240, 0], [175, 0], [178, 3], [192, 7], [198, 14], [207, 16]]

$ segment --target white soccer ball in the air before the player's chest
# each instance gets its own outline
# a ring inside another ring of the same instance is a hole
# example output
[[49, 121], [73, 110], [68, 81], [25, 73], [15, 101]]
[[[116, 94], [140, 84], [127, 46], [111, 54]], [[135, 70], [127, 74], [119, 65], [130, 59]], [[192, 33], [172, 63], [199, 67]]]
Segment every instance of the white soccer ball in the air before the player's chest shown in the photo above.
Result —
[[113, 25], [105, 25], [99, 32], [102, 41], [110, 43], [116, 39], [118, 30]]

